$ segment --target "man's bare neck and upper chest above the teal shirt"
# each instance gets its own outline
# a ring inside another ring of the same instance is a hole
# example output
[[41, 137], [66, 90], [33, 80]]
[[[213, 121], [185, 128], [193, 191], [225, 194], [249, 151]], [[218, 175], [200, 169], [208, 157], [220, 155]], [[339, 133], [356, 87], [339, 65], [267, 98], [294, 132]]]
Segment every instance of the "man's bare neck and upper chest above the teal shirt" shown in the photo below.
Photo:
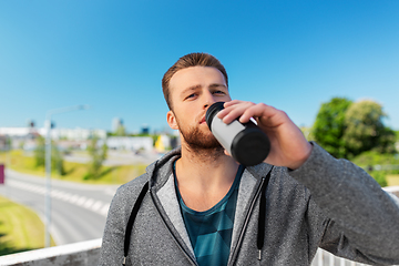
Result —
[[176, 178], [184, 203], [195, 211], [206, 211], [231, 188], [238, 164], [224, 150], [195, 150], [182, 145], [176, 162]]

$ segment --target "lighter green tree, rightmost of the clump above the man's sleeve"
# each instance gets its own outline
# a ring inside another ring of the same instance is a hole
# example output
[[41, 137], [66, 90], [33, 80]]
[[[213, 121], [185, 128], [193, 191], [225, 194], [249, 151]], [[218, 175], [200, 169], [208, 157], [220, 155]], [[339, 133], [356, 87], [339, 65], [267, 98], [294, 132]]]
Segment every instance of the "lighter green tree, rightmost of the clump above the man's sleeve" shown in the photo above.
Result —
[[342, 141], [349, 157], [371, 150], [395, 152], [395, 132], [383, 125], [382, 119], [386, 116], [382, 106], [371, 100], [362, 100], [348, 108]]

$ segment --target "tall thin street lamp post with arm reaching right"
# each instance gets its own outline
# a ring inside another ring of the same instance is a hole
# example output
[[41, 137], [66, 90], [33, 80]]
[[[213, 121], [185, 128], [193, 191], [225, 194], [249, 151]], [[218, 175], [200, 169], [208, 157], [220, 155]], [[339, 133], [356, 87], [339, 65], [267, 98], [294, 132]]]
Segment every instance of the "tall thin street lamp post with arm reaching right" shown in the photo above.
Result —
[[50, 247], [50, 226], [51, 226], [51, 116], [59, 113], [66, 113], [75, 110], [89, 109], [88, 105], [74, 105], [62, 109], [49, 110], [45, 114], [45, 200], [44, 200], [44, 246]]

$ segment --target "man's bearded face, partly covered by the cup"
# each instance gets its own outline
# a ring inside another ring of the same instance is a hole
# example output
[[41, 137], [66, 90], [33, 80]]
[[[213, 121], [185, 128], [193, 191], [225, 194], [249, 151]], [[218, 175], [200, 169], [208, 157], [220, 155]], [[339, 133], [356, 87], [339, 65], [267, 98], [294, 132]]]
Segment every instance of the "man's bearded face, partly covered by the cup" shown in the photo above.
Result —
[[182, 141], [195, 149], [219, 147], [205, 113], [213, 103], [232, 100], [222, 72], [211, 66], [180, 70], [172, 76], [170, 90], [173, 111], [167, 112], [167, 123], [180, 130]]

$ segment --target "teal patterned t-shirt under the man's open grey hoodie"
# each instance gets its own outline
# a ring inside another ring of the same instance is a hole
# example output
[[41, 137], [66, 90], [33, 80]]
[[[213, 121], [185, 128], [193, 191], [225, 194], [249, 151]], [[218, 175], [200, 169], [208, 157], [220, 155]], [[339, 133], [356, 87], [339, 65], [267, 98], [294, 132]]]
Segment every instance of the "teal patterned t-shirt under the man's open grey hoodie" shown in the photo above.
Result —
[[243, 172], [244, 167], [241, 165], [232, 187], [221, 202], [205, 212], [196, 212], [184, 204], [177, 187], [174, 171], [175, 187], [181, 212], [200, 266], [227, 265], [238, 185]]

